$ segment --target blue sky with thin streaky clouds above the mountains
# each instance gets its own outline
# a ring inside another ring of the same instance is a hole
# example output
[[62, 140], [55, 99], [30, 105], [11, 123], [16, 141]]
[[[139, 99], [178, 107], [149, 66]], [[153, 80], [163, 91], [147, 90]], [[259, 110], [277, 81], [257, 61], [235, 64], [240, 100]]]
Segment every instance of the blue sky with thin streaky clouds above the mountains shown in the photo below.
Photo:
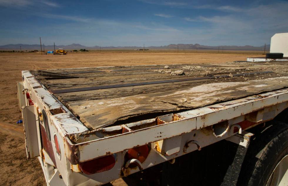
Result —
[[288, 32], [288, 1], [0, 0], [0, 45], [253, 45]]

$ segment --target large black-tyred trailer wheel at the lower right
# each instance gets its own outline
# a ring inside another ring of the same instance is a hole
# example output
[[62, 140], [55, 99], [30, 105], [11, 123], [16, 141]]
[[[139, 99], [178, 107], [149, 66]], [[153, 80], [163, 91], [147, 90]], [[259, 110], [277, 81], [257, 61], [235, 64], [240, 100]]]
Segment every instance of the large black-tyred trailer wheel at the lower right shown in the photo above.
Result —
[[250, 141], [237, 185], [288, 185], [288, 124], [273, 120], [251, 132], [255, 137]]

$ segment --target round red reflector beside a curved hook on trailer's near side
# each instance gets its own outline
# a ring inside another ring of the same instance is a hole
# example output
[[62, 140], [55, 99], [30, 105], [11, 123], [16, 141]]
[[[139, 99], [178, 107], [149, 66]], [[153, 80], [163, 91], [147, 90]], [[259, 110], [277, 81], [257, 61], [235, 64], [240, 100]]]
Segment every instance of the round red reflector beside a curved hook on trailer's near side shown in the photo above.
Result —
[[148, 154], [149, 154], [148, 145], [143, 145], [140, 147], [129, 149], [127, 152], [127, 155], [128, 155], [127, 158], [128, 160], [137, 159], [141, 163], [143, 163], [146, 160]]

